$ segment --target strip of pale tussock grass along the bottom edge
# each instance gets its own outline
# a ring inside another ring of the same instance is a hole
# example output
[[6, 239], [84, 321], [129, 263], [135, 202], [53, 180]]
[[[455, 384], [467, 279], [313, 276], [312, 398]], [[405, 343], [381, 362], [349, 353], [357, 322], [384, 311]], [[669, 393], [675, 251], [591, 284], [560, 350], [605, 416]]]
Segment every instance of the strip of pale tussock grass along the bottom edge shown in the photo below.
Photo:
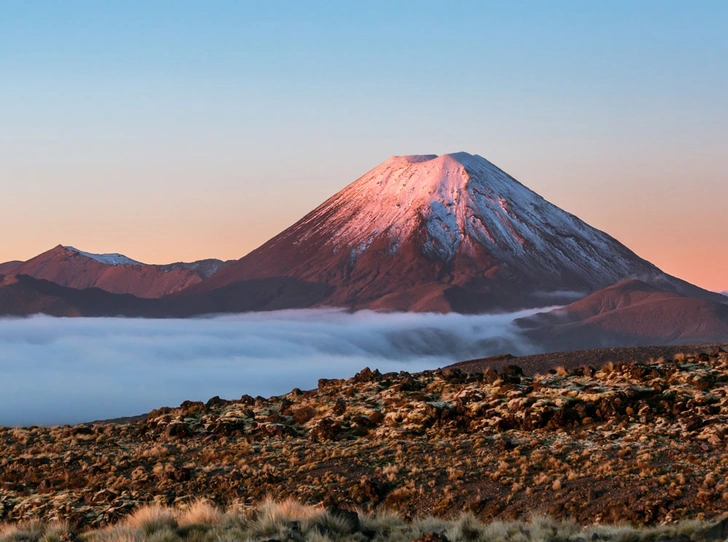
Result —
[[486, 524], [472, 514], [454, 520], [422, 517], [407, 522], [391, 512], [356, 514], [359, 525], [354, 526], [352, 517], [293, 500], [267, 500], [248, 513], [223, 511], [198, 500], [177, 509], [145, 506], [114, 526], [81, 535], [64, 523], [0, 525], [0, 542], [410, 542], [426, 535], [449, 542], [668, 542], [680, 536], [701, 540], [711, 527], [702, 521], [648, 528], [584, 527], [544, 516]]

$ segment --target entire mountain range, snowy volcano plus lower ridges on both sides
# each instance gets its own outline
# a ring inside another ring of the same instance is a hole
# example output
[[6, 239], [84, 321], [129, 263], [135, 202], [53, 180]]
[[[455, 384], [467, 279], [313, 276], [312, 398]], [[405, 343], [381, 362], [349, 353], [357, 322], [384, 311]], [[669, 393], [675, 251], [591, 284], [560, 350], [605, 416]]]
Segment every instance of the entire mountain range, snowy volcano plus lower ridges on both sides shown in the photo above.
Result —
[[728, 340], [728, 297], [664, 273], [467, 153], [392, 157], [233, 262], [146, 265], [59, 245], [0, 264], [0, 313], [13, 315], [554, 305], [564, 307], [519, 322], [544, 349]]

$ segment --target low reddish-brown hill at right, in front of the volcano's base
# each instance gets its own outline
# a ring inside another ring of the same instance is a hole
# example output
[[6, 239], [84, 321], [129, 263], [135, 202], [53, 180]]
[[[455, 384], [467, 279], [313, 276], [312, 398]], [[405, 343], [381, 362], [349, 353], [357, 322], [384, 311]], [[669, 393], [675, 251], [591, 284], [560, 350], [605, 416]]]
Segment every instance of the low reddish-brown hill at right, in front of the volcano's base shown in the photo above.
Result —
[[546, 351], [728, 341], [728, 304], [627, 280], [519, 320]]

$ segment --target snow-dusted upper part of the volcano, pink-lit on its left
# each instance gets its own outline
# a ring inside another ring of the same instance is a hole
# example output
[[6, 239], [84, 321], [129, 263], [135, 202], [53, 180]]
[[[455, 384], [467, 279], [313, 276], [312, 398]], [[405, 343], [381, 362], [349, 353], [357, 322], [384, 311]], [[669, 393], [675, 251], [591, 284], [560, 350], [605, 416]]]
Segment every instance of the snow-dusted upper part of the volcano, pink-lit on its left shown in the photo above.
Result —
[[426, 232], [422, 253], [442, 262], [482, 247], [511, 266], [538, 273], [558, 275], [567, 268], [617, 279], [655, 269], [486, 159], [465, 152], [394, 156], [296, 226], [298, 243], [319, 230], [334, 232], [328, 244], [335, 252], [348, 250], [352, 263], [375, 239], [384, 238], [394, 254], [419, 231]]

